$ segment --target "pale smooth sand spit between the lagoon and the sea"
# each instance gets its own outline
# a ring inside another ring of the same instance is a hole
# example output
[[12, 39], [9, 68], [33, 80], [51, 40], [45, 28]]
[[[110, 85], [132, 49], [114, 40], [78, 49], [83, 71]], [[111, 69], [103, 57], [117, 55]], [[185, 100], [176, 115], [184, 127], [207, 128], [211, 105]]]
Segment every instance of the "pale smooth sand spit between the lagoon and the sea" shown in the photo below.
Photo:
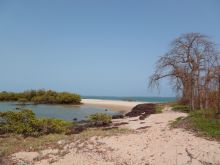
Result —
[[106, 108], [120, 113], [130, 112], [138, 104], [151, 102], [132, 102], [121, 100], [101, 100], [101, 99], [82, 99], [82, 105], [93, 106], [97, 108]]

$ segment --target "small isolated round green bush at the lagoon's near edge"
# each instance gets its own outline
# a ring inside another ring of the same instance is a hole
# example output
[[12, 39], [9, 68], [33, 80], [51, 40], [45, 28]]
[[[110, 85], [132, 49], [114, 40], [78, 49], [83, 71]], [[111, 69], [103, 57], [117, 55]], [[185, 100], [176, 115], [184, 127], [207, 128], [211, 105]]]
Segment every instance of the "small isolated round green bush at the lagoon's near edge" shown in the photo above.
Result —
[[103, 122], [103, 123], [111, 123], [112, 117], [108, 114], [105, 113], [95, 113], [90, 115], [89, 117], [90, 121], [94, 121], [94, 122]]

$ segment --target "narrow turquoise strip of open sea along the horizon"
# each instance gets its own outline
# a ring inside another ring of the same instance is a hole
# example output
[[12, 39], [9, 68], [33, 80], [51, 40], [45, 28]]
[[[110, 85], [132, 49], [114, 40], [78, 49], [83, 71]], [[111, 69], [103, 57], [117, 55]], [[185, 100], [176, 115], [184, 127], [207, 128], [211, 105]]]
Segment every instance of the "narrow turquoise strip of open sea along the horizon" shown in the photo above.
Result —
[[176, 97], [116, 97], [116, 96], [83, 96], [84, 99], [101, 99], [101, 100], [126, 100], [126, 101], [141, 101], [141, 102], [173, 102]]

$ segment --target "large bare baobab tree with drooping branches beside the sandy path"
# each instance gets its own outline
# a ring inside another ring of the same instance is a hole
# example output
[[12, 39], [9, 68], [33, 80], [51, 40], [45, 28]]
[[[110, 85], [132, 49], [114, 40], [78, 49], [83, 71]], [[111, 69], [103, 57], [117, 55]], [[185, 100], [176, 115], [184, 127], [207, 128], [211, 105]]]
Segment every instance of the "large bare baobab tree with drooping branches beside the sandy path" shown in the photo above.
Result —
[[184, 34], [171, 43], [170, 50], [159, 58], [149, 86], [159, 85], [168, 77], [182, 94], [190, 109], [208, 108], [212, 70], [219, 66], [215, 44], [200, 33]]

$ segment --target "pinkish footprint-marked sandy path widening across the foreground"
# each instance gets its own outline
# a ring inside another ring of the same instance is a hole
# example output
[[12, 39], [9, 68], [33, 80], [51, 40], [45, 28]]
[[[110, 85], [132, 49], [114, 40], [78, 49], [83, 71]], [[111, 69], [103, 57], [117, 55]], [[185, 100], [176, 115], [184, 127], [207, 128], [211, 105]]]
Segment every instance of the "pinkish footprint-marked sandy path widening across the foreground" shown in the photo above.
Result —
[[[20, 152], [12, 155], [19, 162], [36, 165], [202, 165], [220, 164], [220, 143], [197, 137], [183, 129], [171, 129], [170, 121], [185, 113], [166, 108], [161, 114], [145, 120], [126, 118], [114, 120], [128, 122], [123, 125], [135, 133], [108, 137], [92, 137], [85, 142], [76, 141], [64, 147], [58, 156], [51, 153], [40, 161], [30, 161], [36, 153]], [[145, 128], [145, 129], [140, 129]], [[48, 153], [48, 152], [46, 152]], [[25, 159], [27, 158], [28, 159]], [[18, 162], [18, 161], [17, 161]]]

